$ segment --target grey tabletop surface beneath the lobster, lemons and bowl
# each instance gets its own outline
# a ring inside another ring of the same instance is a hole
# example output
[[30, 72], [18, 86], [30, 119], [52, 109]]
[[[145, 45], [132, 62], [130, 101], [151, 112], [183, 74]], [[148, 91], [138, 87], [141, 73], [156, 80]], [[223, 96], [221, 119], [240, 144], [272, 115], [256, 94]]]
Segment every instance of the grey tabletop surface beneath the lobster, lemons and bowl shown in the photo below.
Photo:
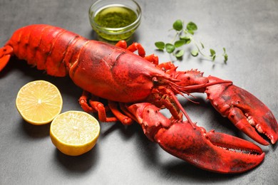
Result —
[[[0, 0], [0, 45], [21, 26], [47, 23], [96, 39], [88, 21], [92, 1]], [[155, 41], [170, 41], [173, 21], [181, 18], [199, 26], [196, 38], [206, 48], [227, 49], [227, 64], [186, 54], [175, 61], [180, 70], [198, 68], [233, 82], [262, 100], [278, 115], [278, 1], [143, 1], [140, 28], [134, 41], [160, 61], [175, 60], [155, 51]], [[188, 46], [188, 50], [192, 46]], [[187, 50], [186, 49], [186, 50]], [[12, 58], [0, 73], [0, 184], [277, 184], [277, 144], [262, 147], [264, 162], [244, 174], [214, 174], [197, 169], [149, 142], [138, 125], [101, 123], [101, 137], [91, 152], [68, 157], [49, 138], [49, 125], [36, 127], [21, 119], [15, 107], [16, 93], [32, 80], [48, 80], [61, 90], [63, 112], [81, 110], [82, 90], [69, 78], [53, 78], [24, 61]], [[199, 97], [199, 96], [198, 96]], [[192, 120], [208, 130], [216, 129], [244, 139], [230, 122], [212, 109], [202, 96], [196, 105], [181, 98]]]

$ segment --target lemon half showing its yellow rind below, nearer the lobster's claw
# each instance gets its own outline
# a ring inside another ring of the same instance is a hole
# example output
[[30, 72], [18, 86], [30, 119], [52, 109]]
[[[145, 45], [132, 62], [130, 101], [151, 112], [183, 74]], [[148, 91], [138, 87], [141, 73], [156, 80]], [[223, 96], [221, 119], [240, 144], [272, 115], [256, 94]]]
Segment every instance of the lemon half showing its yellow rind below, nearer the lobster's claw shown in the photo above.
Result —
[[78, 156], [96, 144], [101, 127], [95, 117], [86, 112], [68, 111], [51, 122], [50, 137], [63, 154]]

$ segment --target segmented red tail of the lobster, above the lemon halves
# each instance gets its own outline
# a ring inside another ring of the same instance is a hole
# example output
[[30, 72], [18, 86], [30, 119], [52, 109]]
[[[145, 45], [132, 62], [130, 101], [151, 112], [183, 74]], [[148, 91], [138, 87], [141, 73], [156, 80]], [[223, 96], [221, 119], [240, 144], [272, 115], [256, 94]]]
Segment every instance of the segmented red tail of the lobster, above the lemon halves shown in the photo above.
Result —
[[[86, 41], [63, 28], [38, 24], [15, 31], [3, 51], [11, 48], [17, 58], [27, 60], [29, 65], [46, 70], [48, 75], [63, 77]], [[3, 51], [0, 51], [0, 57]], [[9, 56], [4, 54], [1, 58], [0, 68], [4, 68]]]

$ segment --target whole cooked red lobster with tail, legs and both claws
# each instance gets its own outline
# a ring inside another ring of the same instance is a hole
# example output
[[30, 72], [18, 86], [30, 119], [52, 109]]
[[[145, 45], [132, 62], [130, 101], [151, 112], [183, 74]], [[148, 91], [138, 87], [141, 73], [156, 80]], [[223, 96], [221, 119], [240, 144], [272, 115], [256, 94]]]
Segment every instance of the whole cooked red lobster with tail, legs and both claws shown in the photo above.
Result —
[[[69, 74], [84, 90], [79, 99], [83, 110], [98, 112], [102, 122], [119, 120], [129, 125], [135, 120], [148, 139], [202, 169], [240, 173], [259, 165], [264, 152], [252, 142], [197, 127], [176, 95], [207, 93], [213, 107], [249, 137], [267, 145], [259, 132], [272, 144], [277, 142], [277, 121], [257, 97], [231, 81], [203, 77], [197, 70], [177, 71], [170, 62], [158, 64], [158, 57], [145, 56], [138, 43], [127, 46], [120, 41], [111, 46], [62, 28], [31, 25], [17, 30], [0, 48], [0, 71], [12, 55], [46, 70], [48, 75]], [[98, 98], [107, 100], [108, 108]], [[172, 117], [160, 113], [162, 108]], [[107, 110], [115, 117], [107, 117]]]

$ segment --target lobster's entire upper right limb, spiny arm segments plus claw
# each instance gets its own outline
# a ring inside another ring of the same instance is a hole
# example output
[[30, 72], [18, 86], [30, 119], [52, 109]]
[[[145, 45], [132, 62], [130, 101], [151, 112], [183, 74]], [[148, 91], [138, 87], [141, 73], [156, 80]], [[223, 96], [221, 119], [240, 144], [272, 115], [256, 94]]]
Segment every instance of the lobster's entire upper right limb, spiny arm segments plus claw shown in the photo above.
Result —
[[180, 80], [177, 85], [185, 87], [187, 93], [207, 93], [213, 107], [244, 134], [259, 144], [268, 145], [261, 134], [272, 144], [278, 139], [277, 120], [271, 110], [257, 97], [232, 83], [213, 76], [204, 77], [197, 70], [177, 71], [173, 63], [158, 65], [165, 73]]

